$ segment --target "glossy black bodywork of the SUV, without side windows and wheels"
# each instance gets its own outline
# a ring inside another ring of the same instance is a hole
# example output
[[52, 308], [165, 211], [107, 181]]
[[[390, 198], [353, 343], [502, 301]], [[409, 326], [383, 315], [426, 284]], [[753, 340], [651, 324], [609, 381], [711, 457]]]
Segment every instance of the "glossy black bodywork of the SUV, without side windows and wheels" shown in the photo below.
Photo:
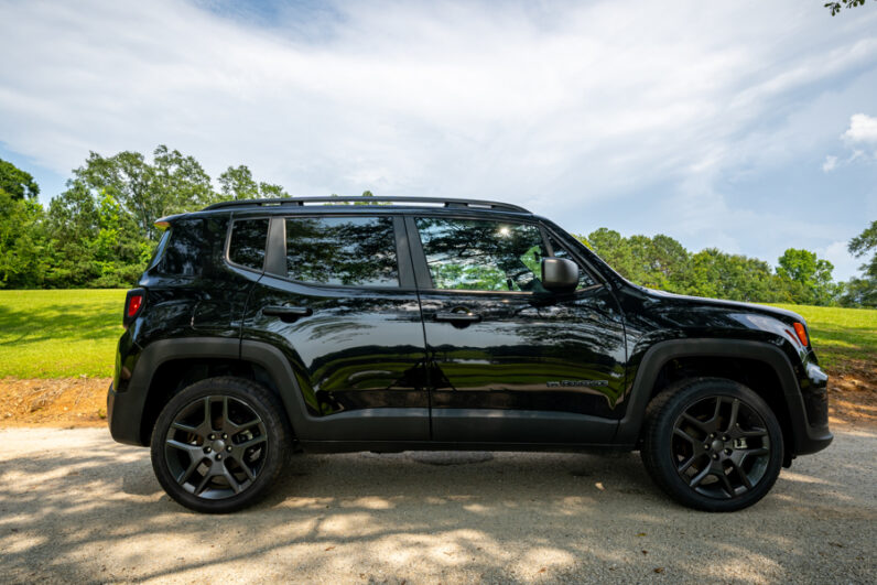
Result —
[[[286, 278], [283, 217], [378, 213], [393, 220], [399, 286]], [[572, 293], [432, 289], [412, 229], [424, 213], [538, 225], [583, 268], [588, 285]], [[235, 266], [226, 245], [231, 221], [256, 217], [271, 218], [264, 266]], [[632, 285], [544, 218], [402, 205], [234, 206], [170, 223], [186, 230], [166, 246], [167, 258], [175, 243], [183, 248], [172, 259], [175, 273], [163, 258], [144, 272], [147, 304], [119, 342], [109, 419], [120, 441], [142, 444], [149, 435], [141, 426], [154, 371], [195, 356], [251, 365], [280, 393], [297, 441], [315, 451], [635, 448], [657, 372], [699, 347], [788, 369], [777, 392], [792, 418], [792, 455], [831, 441], [824, 373], [792, 328], [800, 316]], [[186, 252], [197, 266], [186, 264]], [[190, 350], [193, 344], [199, 347]]]

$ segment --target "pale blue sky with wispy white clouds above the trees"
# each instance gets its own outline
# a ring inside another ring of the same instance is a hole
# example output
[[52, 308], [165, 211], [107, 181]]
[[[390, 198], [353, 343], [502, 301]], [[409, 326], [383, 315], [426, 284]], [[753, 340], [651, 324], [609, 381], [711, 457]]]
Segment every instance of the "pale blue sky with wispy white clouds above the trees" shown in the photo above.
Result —
[[877, 2], [0, 0], [0, 159], [47, 203], [167, 144], [299, 196], [498, 199], [857, 273]]

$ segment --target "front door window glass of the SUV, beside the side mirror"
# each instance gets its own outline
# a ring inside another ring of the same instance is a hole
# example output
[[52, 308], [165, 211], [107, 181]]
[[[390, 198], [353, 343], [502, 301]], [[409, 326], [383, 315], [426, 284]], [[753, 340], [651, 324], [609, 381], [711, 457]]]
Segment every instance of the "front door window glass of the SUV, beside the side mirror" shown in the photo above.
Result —
[[436, 289], [544, 291], [545, 249], [538, 227], [438, 217], [415, 221]]

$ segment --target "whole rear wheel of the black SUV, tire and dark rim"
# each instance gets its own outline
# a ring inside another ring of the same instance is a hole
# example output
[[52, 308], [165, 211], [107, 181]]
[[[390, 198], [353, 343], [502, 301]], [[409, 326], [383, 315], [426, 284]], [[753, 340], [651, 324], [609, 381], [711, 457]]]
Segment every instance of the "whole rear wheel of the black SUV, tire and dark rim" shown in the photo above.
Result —
[[152, 431], [152, 468], [167, 495], [227, 513], [263, 498], [292, 432], [277, 396], [241, 378], [209, 378], [173, 397]]

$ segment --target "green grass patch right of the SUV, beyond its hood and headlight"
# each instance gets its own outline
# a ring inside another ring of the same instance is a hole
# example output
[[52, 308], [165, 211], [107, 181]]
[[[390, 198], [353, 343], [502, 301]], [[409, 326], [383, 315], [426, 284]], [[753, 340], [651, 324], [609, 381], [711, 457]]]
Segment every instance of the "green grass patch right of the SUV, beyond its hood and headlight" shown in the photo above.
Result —
[[[858, 359], [877, 362], [877, 310], [834, 306], [773, 305], [806, 319], [810, 342], [820, 364]], [[877, 364], [875, 364], [877, 367]]]

